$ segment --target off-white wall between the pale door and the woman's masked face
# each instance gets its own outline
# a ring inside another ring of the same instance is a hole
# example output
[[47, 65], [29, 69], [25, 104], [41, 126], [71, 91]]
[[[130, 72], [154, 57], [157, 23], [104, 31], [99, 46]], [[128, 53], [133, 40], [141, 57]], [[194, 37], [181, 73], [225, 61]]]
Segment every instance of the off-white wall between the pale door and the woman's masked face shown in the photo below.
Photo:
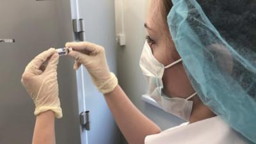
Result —
[[124, 0], [126, 45], [118, 47], [118, 81], [132, 102], [164, 130], [180, 124], [182, 120], [141, 100], [141, 95], [147, 91], [147, 82], [141, 74], [139, 61], [145, 42], [143, 24], [148, 1]]

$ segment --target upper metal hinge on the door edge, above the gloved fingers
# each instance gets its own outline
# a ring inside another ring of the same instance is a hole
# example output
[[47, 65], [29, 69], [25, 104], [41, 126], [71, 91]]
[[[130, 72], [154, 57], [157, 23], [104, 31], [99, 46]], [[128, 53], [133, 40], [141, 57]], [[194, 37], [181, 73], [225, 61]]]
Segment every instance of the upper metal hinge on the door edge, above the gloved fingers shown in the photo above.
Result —
[[83, 19], [74, 19], [73, 20], [73, 31], [75, 34], [76, 41], [83, 42], [85, 40], [84, 20]]

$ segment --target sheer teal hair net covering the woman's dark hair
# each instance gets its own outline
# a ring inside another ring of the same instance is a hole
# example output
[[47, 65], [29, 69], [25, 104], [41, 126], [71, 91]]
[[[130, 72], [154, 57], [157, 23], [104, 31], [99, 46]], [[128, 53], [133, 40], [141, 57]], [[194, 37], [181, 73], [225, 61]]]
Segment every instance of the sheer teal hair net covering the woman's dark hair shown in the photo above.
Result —
[[197, 1], [172, 2], [168, 25], [198, 96], [233, 129], [256, 143], [256, 45], [252, 49], [243, 40], [238, 44], [223, 38]]

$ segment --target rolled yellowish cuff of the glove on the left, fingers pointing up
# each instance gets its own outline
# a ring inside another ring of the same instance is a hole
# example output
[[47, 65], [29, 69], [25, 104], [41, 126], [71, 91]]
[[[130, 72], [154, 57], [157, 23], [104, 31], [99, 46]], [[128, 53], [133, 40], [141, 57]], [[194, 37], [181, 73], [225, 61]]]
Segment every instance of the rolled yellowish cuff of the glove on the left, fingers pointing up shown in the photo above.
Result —
[[51, 106], [42, 106], [40, 108], [35, 109], [35, 115], [39, 115], [40, 113], [44, 113], [45, 111], [53, 111], [55, 113], [56, 118], [62, 118], [62, 109], [60, 107], [51, 107]]

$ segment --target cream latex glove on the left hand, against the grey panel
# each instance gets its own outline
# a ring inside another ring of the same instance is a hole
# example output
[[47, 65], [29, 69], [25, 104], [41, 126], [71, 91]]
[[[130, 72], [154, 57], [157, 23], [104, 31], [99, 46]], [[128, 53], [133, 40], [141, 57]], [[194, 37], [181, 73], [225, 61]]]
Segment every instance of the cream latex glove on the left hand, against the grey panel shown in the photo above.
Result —
[[35, 103], [35, 115], [51, 110], [56, 118], [62, 117], [56, 71], [58, 61], [58, 54], [51, 48], [36, 56], [22, 75], [21, 82]]

